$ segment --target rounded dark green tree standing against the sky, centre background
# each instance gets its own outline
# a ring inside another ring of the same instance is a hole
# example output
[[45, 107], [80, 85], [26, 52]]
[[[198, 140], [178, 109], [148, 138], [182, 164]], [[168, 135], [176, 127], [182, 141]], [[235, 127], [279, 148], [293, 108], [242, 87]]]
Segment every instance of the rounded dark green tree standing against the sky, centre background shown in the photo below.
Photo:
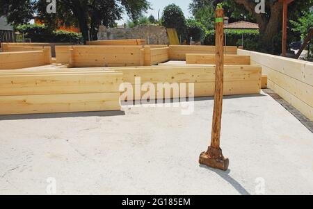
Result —
[[176, 28], [179, 35], [183, 35], [185, 32], [186, 19], [184, 12], [175, 3], [164, 8], [161, 22], [166, 28]]

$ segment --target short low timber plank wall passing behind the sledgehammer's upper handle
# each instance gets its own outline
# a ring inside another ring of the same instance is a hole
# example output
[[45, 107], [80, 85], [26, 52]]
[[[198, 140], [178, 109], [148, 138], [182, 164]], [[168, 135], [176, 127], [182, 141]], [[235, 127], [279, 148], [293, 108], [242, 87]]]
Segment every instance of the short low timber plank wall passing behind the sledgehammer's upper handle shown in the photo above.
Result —
[[[187, 64], [203, 64], [203, 65], [215, 65], [216, 55], [209, 53], [187, 53], [186, 54]], [[250, 56], [239, 56], [239, 55], [225, 55], [225, 65], [250, 65]]]

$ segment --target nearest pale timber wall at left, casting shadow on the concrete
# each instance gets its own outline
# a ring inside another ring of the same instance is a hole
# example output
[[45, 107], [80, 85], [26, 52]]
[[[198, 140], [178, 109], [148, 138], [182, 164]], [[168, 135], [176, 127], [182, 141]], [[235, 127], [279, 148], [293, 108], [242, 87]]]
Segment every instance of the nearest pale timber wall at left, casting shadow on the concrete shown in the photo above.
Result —
[[121, 83], [114, 71], [1, 71], [0, 115], [120, 110]]

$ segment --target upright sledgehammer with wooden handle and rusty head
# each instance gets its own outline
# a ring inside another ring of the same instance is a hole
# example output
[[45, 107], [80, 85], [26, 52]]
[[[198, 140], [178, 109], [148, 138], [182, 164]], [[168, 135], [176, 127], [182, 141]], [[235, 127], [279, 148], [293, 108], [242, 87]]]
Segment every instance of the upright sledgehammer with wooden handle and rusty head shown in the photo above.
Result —
[[229, 160], [224, 158], [220, 149], [220, 124], [223, 106], [223, 71], [224, 71], [224, 11], [216, 10], [216, 81], [214, 94], [214, 111], [211, 131], [211, 146], [200, 155], [200, 164], [226, 171]]

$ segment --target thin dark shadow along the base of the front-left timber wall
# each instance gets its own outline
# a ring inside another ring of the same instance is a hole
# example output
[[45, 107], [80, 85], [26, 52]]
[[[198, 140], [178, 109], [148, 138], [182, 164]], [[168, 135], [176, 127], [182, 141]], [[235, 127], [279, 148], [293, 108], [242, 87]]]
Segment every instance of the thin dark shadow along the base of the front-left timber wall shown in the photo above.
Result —
[[125, 115], [123, 111], [99, 111], [99, 112], [66, 112], [66, 113], [45, 113], [45, 114], [26, 114], [26, 115], [1, 115], [1, 120], [17, 119], [49, 119], [65, 117], [111, 117]]

